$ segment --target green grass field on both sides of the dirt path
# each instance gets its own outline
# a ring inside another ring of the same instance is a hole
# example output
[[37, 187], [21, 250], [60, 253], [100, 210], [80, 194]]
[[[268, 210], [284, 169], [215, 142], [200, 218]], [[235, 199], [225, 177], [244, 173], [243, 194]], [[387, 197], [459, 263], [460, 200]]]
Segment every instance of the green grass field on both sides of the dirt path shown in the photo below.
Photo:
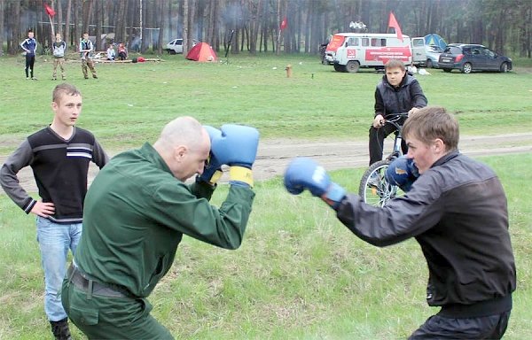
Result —
[[[367, 138], [373, 91], [382, 73], [335, 73], [318, 58], [230, 56], [197, 64], [182, 56], [142, 64], [98, 64], [83, 80], [76, 60], [67, 81], [82, 90], [79, 126], [110, 151], [153, 142], [179, 115], [202, 123], [259, 128], [263, 139]], [[228, 61], [228, 62], [227, 62]], [[293, 66], [286, 78], [285, 66]], [[0, 155], [51, 121], [51, 62], [37, 58], [26, 81], [23, 59], [0, 58]], [[532, 70], [418, 76], [430, 104], [456, 112], [465, 135], [532, 128]], [[508, 196], [518, 290], [505, 339], [531, 336], [532, 155], [482, 158]], [[364, 169], [332, 173], [356, 191]], [[220, 205], [227, 188], [215, 192]], [[280, 178], [259, 182], [244, 243], [224, 251], [189, 237], [150, 297], [153, 315], [184, 339], [396, 339], [435, 313], [425, 303], [426, 264], [418, 244], [376, 248], [353, 236], [321, 201], [286, 194]], [[35, 221], [0, 195], [0, 339], [51, 338]], [[76, 339], [84, 338], [74, 330]]]

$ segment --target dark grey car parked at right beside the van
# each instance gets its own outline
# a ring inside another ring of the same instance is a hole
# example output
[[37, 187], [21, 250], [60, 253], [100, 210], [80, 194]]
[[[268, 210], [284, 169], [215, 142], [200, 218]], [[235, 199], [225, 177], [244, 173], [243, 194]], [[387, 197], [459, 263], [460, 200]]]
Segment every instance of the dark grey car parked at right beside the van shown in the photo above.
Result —
[[508, 72], [512, 70], [512, 59], [479, 44], [450, 43], [440, 55], [438, 66], [444, 72], [450, 72], [453, 69], [460, 70], [461, 73]]

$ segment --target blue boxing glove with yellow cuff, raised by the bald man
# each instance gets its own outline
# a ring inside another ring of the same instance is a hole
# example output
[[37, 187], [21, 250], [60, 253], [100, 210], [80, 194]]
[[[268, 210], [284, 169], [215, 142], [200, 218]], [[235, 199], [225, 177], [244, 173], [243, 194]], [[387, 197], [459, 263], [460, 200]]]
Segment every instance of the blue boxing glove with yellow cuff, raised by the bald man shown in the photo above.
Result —
[[259, 131], [236, 124], [224, 124], [221, 131], [213, 140], [213, 154], [230, 166], [231, 184], [253, 187], [251, 168], [259, 147]]

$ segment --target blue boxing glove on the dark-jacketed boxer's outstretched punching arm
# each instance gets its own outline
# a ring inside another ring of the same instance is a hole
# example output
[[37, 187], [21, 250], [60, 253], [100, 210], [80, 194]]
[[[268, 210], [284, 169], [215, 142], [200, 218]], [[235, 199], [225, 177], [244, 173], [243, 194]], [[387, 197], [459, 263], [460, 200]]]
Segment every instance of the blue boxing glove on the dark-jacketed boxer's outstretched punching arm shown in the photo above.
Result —
[[285, 172], [285, 187], [293, 195], [309, 189], [313, 196], [321, 197], [334, 209], [346, 196], [346, 190], [332, 182], [325, 169], [310, 158], [294, 158], [290, 162]]

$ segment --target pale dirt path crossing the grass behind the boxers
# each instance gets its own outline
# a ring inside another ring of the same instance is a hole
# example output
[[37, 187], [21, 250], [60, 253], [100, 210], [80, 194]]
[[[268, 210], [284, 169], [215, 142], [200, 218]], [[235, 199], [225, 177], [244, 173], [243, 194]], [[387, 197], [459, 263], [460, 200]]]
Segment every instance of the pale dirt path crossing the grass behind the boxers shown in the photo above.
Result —
[[[392, 143], [391, 138], [387, 139], [387, 143]], [[387, 145], [385, 144], [385, 149]], [[472, 157], [532, 152], [532, 133], [462, 136], [460, 150]], [[298, 156], [314, 158], [327, 170], [367, 166], [369, 160], [368, 143], [363, 140], [309, 142], [293, 139], [271, 139], [261, 141], [254, 163], [255, 181], [263, 181], [283, 174], [290, 159]], [[1, 164], [4, 164], [6, 157], [6, 155], [0, 156]], [[98, 174], [98, 167], [91, 163], [90, 182], [96, 174]], [[19, 179], [27, 191], [36, 191], [30, 168], [22, 169], [19, 173]], [[0, 193], [4, 193], [4, 191], [2, 190]]]

